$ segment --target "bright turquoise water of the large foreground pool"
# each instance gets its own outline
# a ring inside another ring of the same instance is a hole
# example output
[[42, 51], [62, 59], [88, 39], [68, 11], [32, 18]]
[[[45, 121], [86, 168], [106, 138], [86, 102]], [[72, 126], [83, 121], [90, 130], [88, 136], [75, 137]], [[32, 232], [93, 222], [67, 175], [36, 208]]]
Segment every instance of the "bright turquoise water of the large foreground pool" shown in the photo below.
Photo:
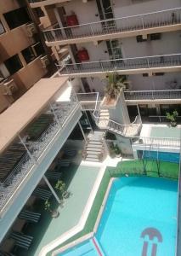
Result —
[[[154, 177], [122, 177], [110, 189], [96, 239], [106, 256], [174, 256], [178, 182]], [[143, 237], [141, 234], [143, 233]], [[153, 233], [153, 239], [149, 237]], [[146, 235], [147, 234], [147, 235]], [[159, 240], [159, 241], [158, 241]], [[86, 249], [85, 249], [86, 248]], [[67, 251], [66, 256], [99, 255], [92, 241]]]

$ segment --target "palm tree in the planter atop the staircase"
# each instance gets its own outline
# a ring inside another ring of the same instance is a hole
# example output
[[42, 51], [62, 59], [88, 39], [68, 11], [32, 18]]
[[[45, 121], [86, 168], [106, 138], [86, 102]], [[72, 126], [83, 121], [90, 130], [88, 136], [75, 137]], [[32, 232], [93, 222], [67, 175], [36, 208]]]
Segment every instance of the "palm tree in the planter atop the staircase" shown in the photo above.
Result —
[[129, 82], [125, 75], [110, 73], [107, 76], [105, 94], [109, 99], [116, 99], [116, 97], [120, 95], [121, 90], [125, 90], [128, 84]]

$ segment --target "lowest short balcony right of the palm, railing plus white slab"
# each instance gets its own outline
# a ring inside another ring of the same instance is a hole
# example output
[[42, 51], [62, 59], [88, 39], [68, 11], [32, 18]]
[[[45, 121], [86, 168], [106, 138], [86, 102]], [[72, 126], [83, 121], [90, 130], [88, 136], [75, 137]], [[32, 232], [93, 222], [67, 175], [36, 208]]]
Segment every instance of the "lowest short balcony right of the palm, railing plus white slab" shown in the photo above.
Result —
[[132, 90], [124, 92], [127, 105], [135, 104], [180, 104], [181, 90]]

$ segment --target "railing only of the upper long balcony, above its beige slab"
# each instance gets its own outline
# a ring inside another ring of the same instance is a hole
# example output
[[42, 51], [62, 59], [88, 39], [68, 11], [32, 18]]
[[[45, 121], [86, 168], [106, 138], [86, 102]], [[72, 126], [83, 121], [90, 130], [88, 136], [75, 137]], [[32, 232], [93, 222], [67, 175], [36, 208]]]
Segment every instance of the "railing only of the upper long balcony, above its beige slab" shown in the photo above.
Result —
[[[34, 0], [32, 0], [34, 1]], [[47, 42], [62, 41], [73, 38], [88, 38], [116, 32], [132, 32], [181, 23], [181, 8], [167, 9], [143, 15], [101, 20], [77, 26], [67, 26], [45, 30]]]

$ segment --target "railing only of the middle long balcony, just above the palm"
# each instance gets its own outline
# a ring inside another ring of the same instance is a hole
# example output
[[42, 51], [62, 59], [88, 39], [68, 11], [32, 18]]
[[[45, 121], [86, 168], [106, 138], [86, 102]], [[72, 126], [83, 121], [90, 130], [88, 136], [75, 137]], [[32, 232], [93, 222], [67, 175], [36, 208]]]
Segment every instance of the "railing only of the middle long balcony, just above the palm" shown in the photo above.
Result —
[[[116, 59], [109, 61], [91, 61], [75, 64], [57, 65], [60, 74], [79, 74], [96, 72], [116, 72], [132, 69], [151, 69], [156, 67], [181, 66], [181, 54], [154, 55], [136, 58]], [[142, 71], [143, 73], [143, 71]]]

